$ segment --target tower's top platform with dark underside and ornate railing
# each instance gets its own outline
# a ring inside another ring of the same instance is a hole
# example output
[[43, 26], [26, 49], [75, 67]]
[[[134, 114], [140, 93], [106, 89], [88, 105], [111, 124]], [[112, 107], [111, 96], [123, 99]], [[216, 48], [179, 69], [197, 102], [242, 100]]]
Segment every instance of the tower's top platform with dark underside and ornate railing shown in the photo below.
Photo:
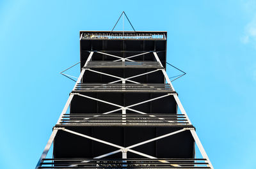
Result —
[[97, 58], [112, 61], [109, 55], [125, 58], [143, 53], [132, 59], [154, 61], [150, 53], [157, 52], [163, 66], [166, 65], [166, 31], [80, 31], [79, 37], [81, 68], [90, 52], [95, 52], [95, 61], [99, 61]]

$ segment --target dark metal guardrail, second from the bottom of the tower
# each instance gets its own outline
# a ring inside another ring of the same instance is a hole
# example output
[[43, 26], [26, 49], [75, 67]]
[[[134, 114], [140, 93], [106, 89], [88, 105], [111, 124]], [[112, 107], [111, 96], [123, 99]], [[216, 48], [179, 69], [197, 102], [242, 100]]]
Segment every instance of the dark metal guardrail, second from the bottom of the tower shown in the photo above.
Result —
[[56, 126], [186, 126], [184, 114], [64, 114]]

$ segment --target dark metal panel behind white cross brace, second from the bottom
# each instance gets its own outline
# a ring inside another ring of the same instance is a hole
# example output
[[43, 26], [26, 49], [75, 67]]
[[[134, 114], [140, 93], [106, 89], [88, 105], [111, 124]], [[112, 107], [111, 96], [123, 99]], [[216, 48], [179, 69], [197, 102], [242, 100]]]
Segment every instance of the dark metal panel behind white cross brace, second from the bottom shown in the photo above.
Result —
[[[126, 92], [123, 95], [122, 92], [99, 92], [99, 94], [97, 94], [97, 92], [92, 92], [92, 93], [86, 92], [85, 95], [93, 98], [97, 98], [97, 96], [99, 96], [99, 98], [97, 99], [102, 99], [104, 101], [115, 103], [120, 106], [129, 106], [135, 103], [139, 103], [141, 101], [147, 101], [148, 99], [163, 96], [164, 93], [150, 94], [150, 92]], [[125, 99], [125, 105], [124, 105], [123, 98]], [[102, 103], [100, 101], [99, 103], [97, 102], [98, 101], [84, 98], [82, 96], [74, 96], [74, 99], [70, 103], [70, 113], [96, 114], [98, 112], [97, 111], [97, 107], [98, 107], [99, 113], [102, 114], [104, 112], [108, 112], [118, 108], [113, 105], [109, 105], [107, 103]], [[135, 110], [139, 110], [141, 112], [149, 113], [150, 103], [152, 107], [151, 108], [152, 114], [177, 114], [177, 103], [172, 95], [164, 98], [156, 99], [154, 101], [150, 101], [147, 103], [143, 103], [141, 105], [137, 105], [131, 108]], [[131, 113], [131, 111], [127, 110], [127, 113]]]

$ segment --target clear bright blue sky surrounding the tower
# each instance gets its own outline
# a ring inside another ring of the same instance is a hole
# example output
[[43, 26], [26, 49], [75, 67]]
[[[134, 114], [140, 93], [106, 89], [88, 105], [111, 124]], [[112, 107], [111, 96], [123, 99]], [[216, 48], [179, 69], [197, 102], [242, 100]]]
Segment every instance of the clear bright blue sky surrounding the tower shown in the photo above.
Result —
[[123, 10], [138, 31], [168, 31], [168, 62], [188, 73], [173, 85], [214, 167], [256, 168], [250, 0], [1, 0], [0, 168], [35, 167], [74, 85], [59, 73], [79, 61], [79, 31], [111, 30]]

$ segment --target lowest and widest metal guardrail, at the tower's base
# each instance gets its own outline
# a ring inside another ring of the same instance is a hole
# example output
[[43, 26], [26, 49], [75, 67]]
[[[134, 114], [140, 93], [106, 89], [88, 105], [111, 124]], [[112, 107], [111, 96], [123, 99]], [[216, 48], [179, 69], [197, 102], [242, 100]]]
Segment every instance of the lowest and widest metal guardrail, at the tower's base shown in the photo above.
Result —
[[171, 158], [171, 159], [43, 159], [38, 168], [210, 168], [207, 159]]

